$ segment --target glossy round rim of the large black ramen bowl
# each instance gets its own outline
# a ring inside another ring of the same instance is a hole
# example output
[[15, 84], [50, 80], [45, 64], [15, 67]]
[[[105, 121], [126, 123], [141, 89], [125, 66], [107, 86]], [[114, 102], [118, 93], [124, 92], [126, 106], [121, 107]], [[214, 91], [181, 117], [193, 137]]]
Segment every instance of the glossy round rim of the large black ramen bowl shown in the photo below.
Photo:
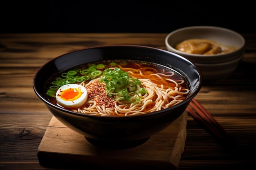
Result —
[[33, 82], [32, 82], [32, 85], [33, 85], [33, 89], [34, 89], [34, 92], [36, 93], [36, 95], [43, 101], [43, 103], [45, 105], [47, 105], [47, 107], [52, 107], [56, 110], [60, 110], [64, 113], [67, 113], [67, 114], [72, 114], [72, 115], [76, 115], [76, 116], [82, 116], [82, 117], [92, 117], [94, 119], [136, 119], [138, 117], [150, 117], [150, 116], [153, 116], [153, 115], [156, 115], [156, 114], [161, 114], [163, 112], [166, 111], [166, 109], [163, 109], [163, 110], [159, 110], [159, 111], [155, 111], [153, 113], [146, 113], [146, 114], [141, 114], [141, 115], [130, 115], [130, 116], [97, 116], [97, 115], [88, 115], [88, 114], [83, 114], [83, 113], [77, 113], [77, 112], [74, 112], [74, 111], [71, 111], [71, 110], [67, 110], [65, 108], [61, 108], [60, 106], [56, 106], [54, 104], [52, 104], [51, 102], [49, 102], [48, 100], [46, 100], [43, 96], [41, 96], [35, 86], [35, 81], [36, 81], [36, 77], [38, 75], [38, 72], [40, 72], [41, 69], [43, 69], [43, 67], [45, 67], [47, 64], [53, 62], [54, 60], [56, 60], [57, 58], [60, 58], [62, 57], [63, 55], [67, 55], [67, 54], [70, 54], [70, 53], [74, 53], [74, 52], [77, 52], [77, 51], [83, 51], [83, 50], [87, 50], [87, 49], [96, 49], [96, 48], [108, 48], [108, 47], [137, 47], [137, 48], [146, 48], [146, 49], [153, 49], [153, 50], [157, 50], [157, 51], [162, 51], [164, 53], [169, 53], [169, 54], [172, 54], [172, 55], [175, 55], [179, 58], [181, 58], [182, 60], [186, 60], [186, 62], [189, 62], [191, 63], [193, 66], [195, 66], [196, 70], [198, 71], [198, 74], [199, 74], [199, 79], [200, 81], [198, 82], [198, 87], [195, 89], [194, 93], [192, 95], [190, 95], [189, 97], [186, 97], [186, 99], [175, 105], [175, 106], [172, 106], [170, 108], [166, 108], [167, 110], [170, 110], [170, 109], [175, 109], [177, 107], [179, 107], [181, 104], [183, 104], [184, 102], [188, 102], [189, 100], [191, 100], [193, 97], [195, 97], [199, 91], [200, 91], [200, 88], [202, 87], [202, 73], [200, 71], [200, 69], [198, 68], [198, 66], [196, 66], [193, 62], [191, 62], [190, 60], [182, 57], [181, 55], [179, 54], [176, 54], [176, 53], [173, 53], [171, 51], [167, 51], [167, 50], [164, 50], [164, 49], [159, 49], [159, 48], [156, 48], [156, 47], [150, 47], [150, 46], [141, 46], [141, 45], [124, 45], [124, 44], [120, 44], [120, 45], [102, 45], [102, 46], [92, 46], [92, 47], [88, 47], [88, 48], [84, 48], [84, 49], [79, 49], [79, 50], [75, 50], [75, 51], [70, 51], [70, 52], [67, 52], [67, 53], [64, 53], [64, 54], [61, 54], [61, 55], [58, 55], [57, 57], [54, 57], [52, 58], [51, 60], [49, 60], [48, 62], [46, 62], [45, 64], [43, 64], [37, 71], [36, 73], [34, 74], [34, 77], [33, 77]]

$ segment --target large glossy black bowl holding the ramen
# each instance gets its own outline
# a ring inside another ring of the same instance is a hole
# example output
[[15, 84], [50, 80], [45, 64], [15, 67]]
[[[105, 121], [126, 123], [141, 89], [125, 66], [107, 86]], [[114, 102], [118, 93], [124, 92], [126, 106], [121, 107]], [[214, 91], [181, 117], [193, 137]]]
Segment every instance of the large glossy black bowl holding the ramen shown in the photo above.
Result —
[[[153, 62], [177, 71], [189, 83], [189, 96], [171, 108], [126, 117], [75, 113], [58, 107], [47, 99], [46, 84], [56, 73], [89, 62], [116, 59]], [[166, 50], [134, 45], [97, 46], [66, 53], [43, 65], [33, 79], [36, 95], [59, 121], [85, 136], [90, 143], [108, 148], [130, 148], [143, 144], [151, 135], [160, 132], [182, 115], [201, 86], [200, 70], [189, 60]]]

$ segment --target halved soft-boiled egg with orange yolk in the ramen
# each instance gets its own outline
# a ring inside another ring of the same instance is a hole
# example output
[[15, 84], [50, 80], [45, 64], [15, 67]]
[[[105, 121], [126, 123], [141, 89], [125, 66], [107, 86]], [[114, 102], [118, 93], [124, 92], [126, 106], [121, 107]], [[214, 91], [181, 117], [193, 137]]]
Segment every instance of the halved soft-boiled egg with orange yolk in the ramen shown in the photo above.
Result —
[[79, 84], [66, 84], [56, 92], [57, 103], [65, 108], [78, 108], [85, 104], [87, 98], [86, 88]]

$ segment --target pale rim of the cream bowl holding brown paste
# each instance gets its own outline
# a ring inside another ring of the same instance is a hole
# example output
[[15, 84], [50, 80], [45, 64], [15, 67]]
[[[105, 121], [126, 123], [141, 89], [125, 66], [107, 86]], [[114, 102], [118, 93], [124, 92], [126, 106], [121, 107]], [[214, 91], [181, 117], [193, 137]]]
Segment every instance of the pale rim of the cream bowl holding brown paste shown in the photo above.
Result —
[[[169, 43], [168, 43], [168, 40], [169, 38], [171, 37], [171, 35], [173, 35], [174, 33], [177, 33], [179, 31], [184, 31], [184, 30], [189, 30], [189, 29], [216, 29], [216, 30], [221, 30], [221, 31], [227, 31], [227, 32], [230, 32], [230, 33], [233, 33], [234, 35], [238, 36], [241, 40], [242, 40], [242, 46], [240, 46], [236, 51], [231, 51], [229, 53], [223, 53], [223, 54], [211, 54], [211, 55], [204, 55], [204, 54], [191, 54], [191, 53], [185, 53], [185, 52], [182, 52], [182, 51], [179, 51], [177, 49], [175, 49], [173, 46], [171, 46]], [[238, 53], [238, 51], [243, 51], [244, 47], [245, 47], [245, 38], [243, 37], [243, 35], [241, 35], [240, 33], [236, 32], [236, 31], [233, 31], [231, 29], [227, 29], [227, 28], [223, 28], [223, 27], [219, 27], [219, 26], [187, 26], [187, 27], [183, 27], [183, 28], [180, 28], [180, 29], [176, 29], [174, 31], [172, 31], [171, 33], [168, 33], [168, 35], [166, 36], [165, 38], [165, 44], [168, 48], [170, 48], [173, 52], [173, 53], [177, 53], [179, 55], [186, 55], [186, 57], [218, 57], [218, 56], [227, 56], [227, 55], [231, 55], [233, 53]]]

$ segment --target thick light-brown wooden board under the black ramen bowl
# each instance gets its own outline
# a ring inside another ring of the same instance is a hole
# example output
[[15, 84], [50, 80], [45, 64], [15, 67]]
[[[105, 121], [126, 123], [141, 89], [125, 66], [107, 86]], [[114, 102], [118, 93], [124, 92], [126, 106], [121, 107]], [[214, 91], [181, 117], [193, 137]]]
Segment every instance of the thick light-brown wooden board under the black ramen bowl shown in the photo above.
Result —
[[106, 169], [177, 170], [186, 141], [187, 112], [166, 129], [153, 135], [140, 146], [128, 149], [102, 149], [52, 117], [38, 147], [38, 160], [43, 166]]

